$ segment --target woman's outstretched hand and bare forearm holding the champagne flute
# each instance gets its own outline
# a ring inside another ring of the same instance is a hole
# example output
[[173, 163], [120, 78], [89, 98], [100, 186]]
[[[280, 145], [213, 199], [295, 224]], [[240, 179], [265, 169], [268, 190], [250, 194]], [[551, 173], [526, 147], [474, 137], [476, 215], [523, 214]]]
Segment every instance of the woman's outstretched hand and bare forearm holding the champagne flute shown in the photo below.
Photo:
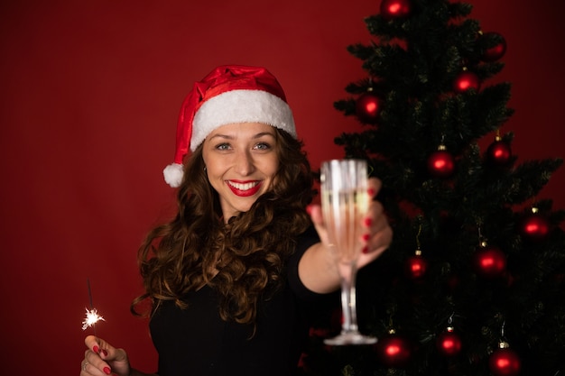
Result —
[[[375, 197], [381, 188], [381, 181], [376, 178], [369, 179], [369, 194]], [[308, 289], [325, 293], [339, 287], [339, 275], [335, 267], [335, 261], [331, 254], [328, 230], [324, 225], [320, 205], [311, 205], [308, 208], [312, 223], [320, 236], [320, 243], [310, 247], [304, 253], [299, 263], [299, 276], [302, 283]], [[393, 230], [384, 215], [384, 209], [380, 202], [371, 200], [369, 209], [362, 223], [366, 231], [360, 241], [363, 243], [363, 251], [357, 260], [357, 268], [375, 261], [390, 245], [393, 240]]]

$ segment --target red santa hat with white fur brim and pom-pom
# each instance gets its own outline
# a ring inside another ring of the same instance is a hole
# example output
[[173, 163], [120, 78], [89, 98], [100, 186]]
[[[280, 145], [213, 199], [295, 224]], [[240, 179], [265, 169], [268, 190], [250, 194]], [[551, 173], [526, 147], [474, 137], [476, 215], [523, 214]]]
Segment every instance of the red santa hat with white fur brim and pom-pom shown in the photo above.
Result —
[[209, 133], [226, 124], [262, 123], [296, 137], [294, 118], [277, 79], [267, 69], [226, 65], [194, 83], [177, 124], [174, 162], [163, 170], [173, 188], [182, 181], [182, 160]]

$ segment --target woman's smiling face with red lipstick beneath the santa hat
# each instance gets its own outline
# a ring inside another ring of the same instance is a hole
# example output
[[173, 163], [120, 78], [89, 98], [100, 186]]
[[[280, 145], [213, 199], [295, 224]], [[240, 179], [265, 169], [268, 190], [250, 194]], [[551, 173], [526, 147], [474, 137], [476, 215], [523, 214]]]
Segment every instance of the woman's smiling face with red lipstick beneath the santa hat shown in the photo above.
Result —
[[276, 142], [274, 128], [260, 123], [223, 125], [204, 140], [202, 158], [226, 222], [272, 187], [279, 166]]

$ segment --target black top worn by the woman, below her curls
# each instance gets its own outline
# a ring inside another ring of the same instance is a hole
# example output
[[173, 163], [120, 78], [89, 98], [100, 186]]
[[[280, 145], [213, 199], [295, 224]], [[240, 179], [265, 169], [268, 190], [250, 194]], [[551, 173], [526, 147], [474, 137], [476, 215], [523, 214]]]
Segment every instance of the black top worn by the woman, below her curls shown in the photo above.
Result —
[[[310, 245], [319, 242], [313, 227], [298, 239], [287, 262], [287, 282], [257, 309], [253, 326], [223, 321], [218, 295], [208, 286], [190, 293], [190, 306], [165, 302], [151, 322], [159, 353], [160, 376], [289, 376], [296, 374], [309, 318], [323, 300], [306, 289], [298, 277], [298, 262]], [[251, 337], [251, 339], [250, 339]]]

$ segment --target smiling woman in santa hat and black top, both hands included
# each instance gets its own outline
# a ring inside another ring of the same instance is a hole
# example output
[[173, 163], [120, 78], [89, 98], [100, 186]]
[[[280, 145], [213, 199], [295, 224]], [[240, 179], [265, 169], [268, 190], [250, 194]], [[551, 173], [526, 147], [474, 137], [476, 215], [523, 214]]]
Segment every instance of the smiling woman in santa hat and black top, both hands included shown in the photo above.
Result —
[[[157, 374], [294, 374], [309, 320], [339, 277], [282, 87], [263, 68], [214, 69], [182, 105], [176, 146], [164, 175], [179, 211], [142, 244], [146, 292], [132, 304], [152, 303]], [[370, 193], [379, 188], [371, 179]], [[392, 230], [376, 201], [359, 225], [362, 267]], [[147, 374], [123, 349], [85, 343], [81, 375]]]

